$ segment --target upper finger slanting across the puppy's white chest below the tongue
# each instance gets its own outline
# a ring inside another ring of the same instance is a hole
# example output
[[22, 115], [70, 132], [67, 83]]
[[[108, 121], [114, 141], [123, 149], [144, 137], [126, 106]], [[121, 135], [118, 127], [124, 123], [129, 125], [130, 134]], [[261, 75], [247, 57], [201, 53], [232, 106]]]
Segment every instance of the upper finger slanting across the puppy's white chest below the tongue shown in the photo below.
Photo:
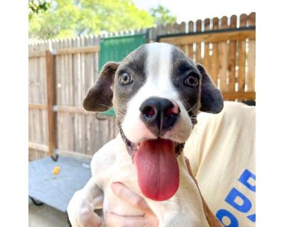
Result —
[[132, 192], [131, 189], [126, 187], [121, 182], [114, 182], [111, 184], [111, 189], [114, 193], [119, 196], [121, 199], [124, 199], [127, 203], [131, 204], [132, 206], [140, 209], [141, 211], [152, 213], [152, 210], [146, 203], [145, 199], [141, 196]]

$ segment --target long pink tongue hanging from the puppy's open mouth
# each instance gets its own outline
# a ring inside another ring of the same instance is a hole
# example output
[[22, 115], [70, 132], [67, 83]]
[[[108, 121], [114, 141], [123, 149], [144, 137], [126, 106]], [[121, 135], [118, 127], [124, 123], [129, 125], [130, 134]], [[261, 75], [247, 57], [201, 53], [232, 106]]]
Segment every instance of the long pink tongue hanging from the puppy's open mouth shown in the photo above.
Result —
[[157, 139], [141, 142], [135, 163], [139, 187], [149, 199], [170, 199], [178, 190], [180, 172], [172, 141]]

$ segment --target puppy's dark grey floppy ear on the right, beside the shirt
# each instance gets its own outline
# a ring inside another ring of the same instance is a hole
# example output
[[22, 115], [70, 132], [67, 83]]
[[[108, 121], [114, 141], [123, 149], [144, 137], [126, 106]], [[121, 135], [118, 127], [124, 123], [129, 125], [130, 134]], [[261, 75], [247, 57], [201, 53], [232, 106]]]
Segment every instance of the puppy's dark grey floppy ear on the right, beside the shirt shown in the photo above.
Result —
[[200, 111], [218, 114], [224, 106], [222, 93], [213, 84], [204, 67], [200, 64], [197, 64], [196, 67], [202, 75]]

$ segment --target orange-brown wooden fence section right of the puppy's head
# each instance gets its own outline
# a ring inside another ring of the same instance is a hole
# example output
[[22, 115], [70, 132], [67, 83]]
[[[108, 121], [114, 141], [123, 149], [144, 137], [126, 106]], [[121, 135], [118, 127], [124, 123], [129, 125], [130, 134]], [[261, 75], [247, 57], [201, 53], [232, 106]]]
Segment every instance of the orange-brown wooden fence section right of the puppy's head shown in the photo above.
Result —
[[[194, 29], [195, 25], [195, 29]], [[224, 99], [256, 99], [256, 14], [198, 20], [188, 32], [160, 35], [158, 40], [178, 46], [201, 63], [221, 89]]]

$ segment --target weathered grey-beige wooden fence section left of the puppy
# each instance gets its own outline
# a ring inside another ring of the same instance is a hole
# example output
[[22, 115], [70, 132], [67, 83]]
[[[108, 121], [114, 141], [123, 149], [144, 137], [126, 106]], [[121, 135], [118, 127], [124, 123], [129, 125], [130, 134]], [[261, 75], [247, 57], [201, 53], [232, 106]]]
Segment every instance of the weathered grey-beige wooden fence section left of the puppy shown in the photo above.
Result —
[[97, 44], [78, 38], [29, 46], [29, 160], [54, 150], [89, 157], [112, 138], [114, 119], [82, 109], [99, 73]]

